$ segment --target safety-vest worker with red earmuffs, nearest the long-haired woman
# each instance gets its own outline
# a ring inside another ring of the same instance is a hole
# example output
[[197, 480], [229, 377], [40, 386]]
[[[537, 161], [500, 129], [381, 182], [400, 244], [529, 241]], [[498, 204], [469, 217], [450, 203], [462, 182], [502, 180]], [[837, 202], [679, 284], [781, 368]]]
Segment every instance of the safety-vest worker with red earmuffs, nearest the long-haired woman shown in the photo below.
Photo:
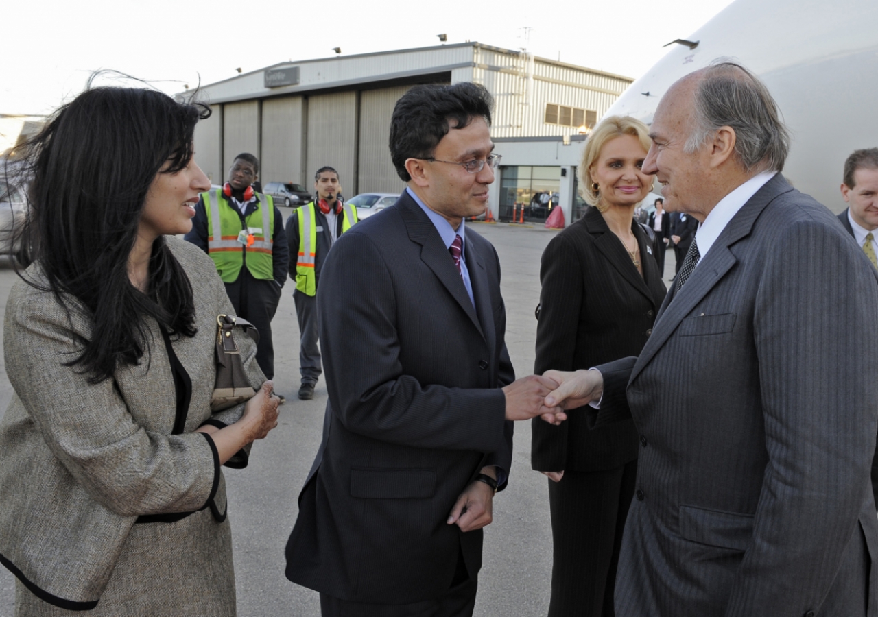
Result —
[[272, 379], [271, 319], [286, 282], [289, 249], [280, 212], [269, 195], [253, 188], [258, 174], [259, 160], [238, 154], [228, 182], [201, 194], [185, 239], [211, 256], [235, 313], [259, 331], [256, 362]]

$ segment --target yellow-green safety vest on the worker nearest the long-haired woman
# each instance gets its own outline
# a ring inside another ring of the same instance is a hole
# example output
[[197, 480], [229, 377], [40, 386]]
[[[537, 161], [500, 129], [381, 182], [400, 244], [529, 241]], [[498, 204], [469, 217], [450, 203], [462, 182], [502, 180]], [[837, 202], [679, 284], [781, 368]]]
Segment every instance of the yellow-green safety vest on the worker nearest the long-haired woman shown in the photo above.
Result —
[[[270, 195], [256, 193], [259, 204], [255, 211], [244, 219], [244, 225], [253, 235], [253, 244], [245, 246], [238, 241], [241, 233], [241, 215], [231, 203], [220, 208], [223, 201], [221, 189], [201, 193], [207, 213], [207, 254], [216, 265], [223, 283], [234, 283], [241, 274], [241, 266], [247, 262], [247, 269], [254, 278], [274, 278], [274, 259], [271, 255], [271, 232], [274, 229], [274, 200]], [[213, 230], [219, 226], [219, 234]], [[244, 254], [247, 254], [246, 260]]]

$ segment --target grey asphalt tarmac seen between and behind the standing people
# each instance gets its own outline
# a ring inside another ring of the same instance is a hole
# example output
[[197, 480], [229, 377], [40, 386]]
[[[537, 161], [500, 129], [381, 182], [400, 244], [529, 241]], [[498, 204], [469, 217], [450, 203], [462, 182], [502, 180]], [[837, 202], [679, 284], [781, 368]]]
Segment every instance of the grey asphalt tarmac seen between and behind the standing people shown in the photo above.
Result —
[[[281, 210], [285, 220], [291, 211]], [[472, 224], [471, 229], [490, 240], [500, 255], [501, 289], [507, 310], [507, 348], [516, 377], [523, 377], [534, 366], [534, 309], [539, 301], [540, 256], [557, 232], [543, 226], [501, 223]], [[672, 274], [673, 252], [667, 255], [666, 280]], [[5, 312], [6, 298], [16, 280], [10, 263], [0, 258], [0, 312]], [[299, 490], [320, 445], [327, 403], [322, 377], [313, 400], [297, 398], [299, 326], [292, 289], [292, 282], [287, 281], [272, 322], [275, 391], [287, 399], [286, 405], [281, 407], [279, 425], [267, 439], [255, 443], [248, 469], [224, 470], [241, 617], [320, 615], [317, 593], [284, 578], [284, 545], [298, 513]], [[0, 367], [3, 363], [4, 359], [0, 358]], [[0, 414], [11, 395], [3, 367]], [[529, 422], [517, 422], [509, 484], [494, 499], [493, 524], [485, 530], [484, 565], [479, 573], [475, 609], [478, 617], [530, 617], [543, 615], [548, 610], [551, 587], [548, 479], [530, 469], [529, 453]], [[7, 570], [0, 568], [0, 617], [12, 616], [13, 580]]]

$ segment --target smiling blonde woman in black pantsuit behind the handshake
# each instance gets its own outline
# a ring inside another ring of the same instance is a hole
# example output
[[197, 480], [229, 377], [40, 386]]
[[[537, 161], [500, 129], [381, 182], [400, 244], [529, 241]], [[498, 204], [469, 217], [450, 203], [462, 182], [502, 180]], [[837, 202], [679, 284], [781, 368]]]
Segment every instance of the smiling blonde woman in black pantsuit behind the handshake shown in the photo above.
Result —
[[[579, 167], [594, 207], [543, 253], [536, 374], [588, 369], [637, 355], [651, 334], [665, 284], [634, 220], [652, 187], [642, 168], [646, 126], [610, 117], [589, 136]], [[531, 463], [550, 478], [554, 540], [551, 617], [613, 615], [615, 566], [637, 474], [632, 420], [589, 430], [585, 414], [561, 426], [535, 422]]]

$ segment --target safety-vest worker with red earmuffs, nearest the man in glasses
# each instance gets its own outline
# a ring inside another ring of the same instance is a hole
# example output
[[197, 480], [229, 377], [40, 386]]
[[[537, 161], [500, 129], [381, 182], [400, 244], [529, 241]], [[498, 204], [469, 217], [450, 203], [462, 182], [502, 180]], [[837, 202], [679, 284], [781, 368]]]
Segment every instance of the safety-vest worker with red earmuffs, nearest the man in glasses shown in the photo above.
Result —
[[[333, 242], [357, 221], [356, 208], [342, 204], [338, 172], [321, 167], [314, 174], [315, 198], [301, 206], [286, 221], [286, 237], [290, 251], [290, 277], [296, 281], [292, 298], [299, 317], [299, 371], [302, 384], [299, 398], [314, 396], [320, 369], [320, 349], [317, 347], [317, 283], [323, 260]], [[315, 203], [316, 202], [316, 203]]]

